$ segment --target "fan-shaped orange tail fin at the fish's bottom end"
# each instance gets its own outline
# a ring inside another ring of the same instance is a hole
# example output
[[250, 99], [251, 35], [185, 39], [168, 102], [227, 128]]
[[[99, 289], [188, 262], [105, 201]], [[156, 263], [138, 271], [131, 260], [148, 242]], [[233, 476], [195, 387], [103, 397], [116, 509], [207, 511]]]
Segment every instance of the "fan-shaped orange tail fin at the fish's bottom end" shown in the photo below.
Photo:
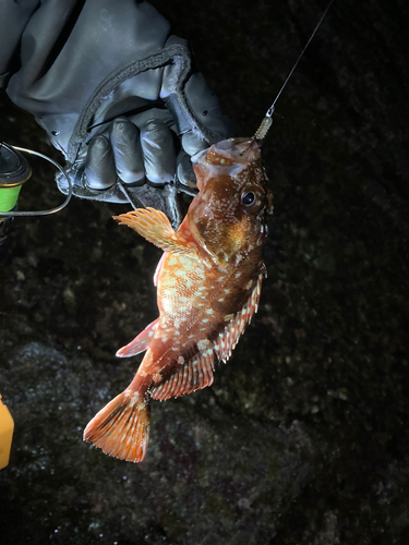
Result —
[[128, 462], [144, 459], [149, 439], [149, 403], [124, 390], [101, 409], [84, 431], [84, 440]]

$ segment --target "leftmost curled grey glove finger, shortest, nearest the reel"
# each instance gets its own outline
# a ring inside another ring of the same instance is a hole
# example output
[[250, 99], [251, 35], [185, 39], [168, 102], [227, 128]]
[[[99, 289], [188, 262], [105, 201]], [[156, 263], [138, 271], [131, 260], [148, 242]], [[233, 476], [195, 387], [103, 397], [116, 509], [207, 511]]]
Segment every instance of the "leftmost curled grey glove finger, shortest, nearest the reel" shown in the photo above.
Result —
[[86, 184], [93, 190], [106, 190], [117, 181], [113, 153], [105, 136], [95, 136], [85, 159]]

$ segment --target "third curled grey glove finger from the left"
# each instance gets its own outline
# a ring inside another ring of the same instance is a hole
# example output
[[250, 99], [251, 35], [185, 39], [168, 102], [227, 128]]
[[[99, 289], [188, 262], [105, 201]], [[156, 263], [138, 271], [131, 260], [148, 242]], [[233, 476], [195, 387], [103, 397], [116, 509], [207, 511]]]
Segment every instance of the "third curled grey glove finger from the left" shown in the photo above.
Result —
[[151, 119], [141, 130], [141, 145], [147, 180], [164, 185], [175, 178], [176, 153], [173, 137], [166, 124]]

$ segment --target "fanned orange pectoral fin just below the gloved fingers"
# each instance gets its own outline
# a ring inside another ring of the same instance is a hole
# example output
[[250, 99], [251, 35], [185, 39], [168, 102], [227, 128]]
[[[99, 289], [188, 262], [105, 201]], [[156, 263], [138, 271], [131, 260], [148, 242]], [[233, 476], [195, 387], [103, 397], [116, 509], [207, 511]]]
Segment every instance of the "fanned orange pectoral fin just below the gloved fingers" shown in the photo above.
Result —
[[185, 240], [178, 235], [167, 216], [160, 210], [151, 207], [137, 208], [128, 214], [113, 216], [113, 219], [118, 220], [121, 226], [130, 227], [164, 252], [173, 254], [195, 252]]

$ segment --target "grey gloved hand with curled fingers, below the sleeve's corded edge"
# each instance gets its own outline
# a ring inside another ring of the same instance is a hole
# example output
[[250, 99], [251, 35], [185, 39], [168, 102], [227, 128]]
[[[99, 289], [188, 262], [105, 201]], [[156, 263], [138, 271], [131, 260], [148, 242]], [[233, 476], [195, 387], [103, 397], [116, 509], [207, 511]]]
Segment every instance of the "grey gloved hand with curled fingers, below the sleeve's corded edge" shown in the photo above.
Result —
[[[182, 48], [183, 55], [189, 51], [185, 40], [175, 36], [166, 47]], [[187, 58], [183, 60], [185, 63]], [[185, 81], [183, 71], [189, 74]], [[123, 113], [111, 120], [112, 102], [103, 100], [93, 116], [87, 129], [92, 136], [85, 138], [69, 168], [74, 194], [130, 201], [135, 207], [153, 206], [177, 226], [181, 220], [178, 191], [195, 191], [190, 157], [231, 136], [232, 125], [203, 75], [191, 74], [179, 60], [139, 73], [116, 87], [113, 94], [113, 111]], [[141, 97], [146, 94], [148, 99]], [[60, 178], [59, 182], [63, 191], [64, 180]]]

